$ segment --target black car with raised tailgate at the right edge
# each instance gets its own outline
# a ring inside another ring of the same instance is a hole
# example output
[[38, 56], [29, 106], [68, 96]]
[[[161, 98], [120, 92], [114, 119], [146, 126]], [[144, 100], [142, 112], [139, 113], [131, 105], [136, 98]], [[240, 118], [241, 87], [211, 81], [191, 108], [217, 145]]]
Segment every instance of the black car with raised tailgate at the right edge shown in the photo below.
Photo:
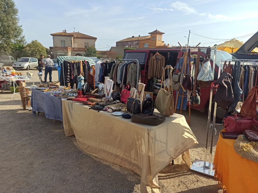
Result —
[[258, 31], [248, 39], [232, 56], [240, 60], [254, 60], [258, 61], [258, 53], [251, 52], [258, 47]]

